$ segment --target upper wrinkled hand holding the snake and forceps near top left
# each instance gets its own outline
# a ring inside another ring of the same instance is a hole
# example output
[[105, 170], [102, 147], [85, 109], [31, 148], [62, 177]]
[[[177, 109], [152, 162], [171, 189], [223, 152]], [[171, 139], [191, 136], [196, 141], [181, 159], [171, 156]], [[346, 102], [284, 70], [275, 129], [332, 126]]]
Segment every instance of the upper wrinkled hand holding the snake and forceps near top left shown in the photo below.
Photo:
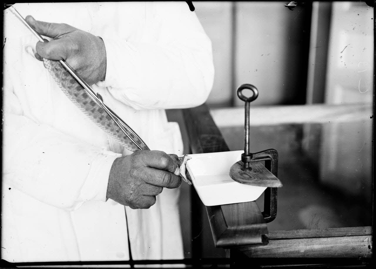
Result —
[[27, 23], [40, 35], [52, 38], [36, 44], [36, 57], [65, 60], [89, 85], [105, 80], [106, 48], [99, 36], [65, 23], [47, 23], [26, 17]]

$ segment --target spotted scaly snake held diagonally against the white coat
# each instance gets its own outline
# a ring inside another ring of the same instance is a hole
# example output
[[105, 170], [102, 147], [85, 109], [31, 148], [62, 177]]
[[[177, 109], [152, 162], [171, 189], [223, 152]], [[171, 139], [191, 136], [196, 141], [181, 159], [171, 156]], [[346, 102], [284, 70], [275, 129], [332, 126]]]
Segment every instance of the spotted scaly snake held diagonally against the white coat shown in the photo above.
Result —
[[[105, 131], [108, 135], [117, 140], [123, 147], [135, 152], [139, 150], [138, 146], [124, 134], [121, 128], [115, 123], [109, 114], [102, 108], [90, 95], [84, 87], [62, 66], [57, 60], [49, 60], [42, 58], [38, 54], [36, 59], [43, 62], [44, 67], [48, 70], [53, 80], [58, 84], [62, 92], [73, 102], [92, 122]], [[129, 134], [136, 139], [132, 134]], [[147, 146], [145, 145], [147, 149]], [[191, 179], [186, 174], [186, 162], [191, 159], [188, 155], [178, 158], [177, 164], [180, 169], [180, 177], [189, 185], [192, 185]]]

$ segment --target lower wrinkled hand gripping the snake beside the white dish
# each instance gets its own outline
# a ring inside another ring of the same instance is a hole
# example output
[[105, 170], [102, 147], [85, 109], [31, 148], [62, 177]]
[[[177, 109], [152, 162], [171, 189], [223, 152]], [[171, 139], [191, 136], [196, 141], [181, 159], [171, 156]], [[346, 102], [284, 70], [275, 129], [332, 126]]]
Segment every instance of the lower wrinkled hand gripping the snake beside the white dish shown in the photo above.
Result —
[[156, 202], [163, 188], [180, 186], [177, 155], [158, 150], [136, 150], [115, 159], [107, 187], [111, 198], [132, 209], [147, 209]]

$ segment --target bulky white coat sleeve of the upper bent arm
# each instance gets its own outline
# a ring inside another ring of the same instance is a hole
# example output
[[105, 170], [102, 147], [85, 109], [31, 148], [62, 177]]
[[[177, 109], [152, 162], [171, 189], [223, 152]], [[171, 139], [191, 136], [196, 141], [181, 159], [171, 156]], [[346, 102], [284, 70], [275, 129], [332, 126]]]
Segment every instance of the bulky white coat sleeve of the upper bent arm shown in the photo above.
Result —
[[[185, 2], [148, 3], [142, 38], [101, 36], [106, 79], [119, 101], [135, 109], [195, 107], [214, 80], [211, 41]], [[148, 6], [149, 7], [149, 6]], [[126, 25], [120, 27], [127, 27]]]

